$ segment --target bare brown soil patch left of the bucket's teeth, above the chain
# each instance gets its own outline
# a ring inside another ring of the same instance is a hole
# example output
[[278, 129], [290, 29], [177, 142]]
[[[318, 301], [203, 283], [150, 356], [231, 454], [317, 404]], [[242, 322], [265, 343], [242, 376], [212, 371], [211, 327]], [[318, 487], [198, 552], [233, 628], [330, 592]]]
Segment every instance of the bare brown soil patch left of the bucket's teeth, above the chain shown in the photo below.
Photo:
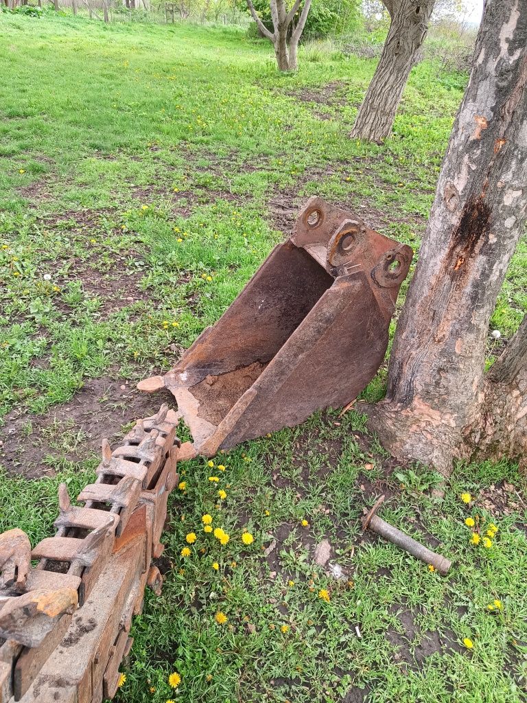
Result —
[[54, 459], [82, 461], [99, 452], [103, 437], [115, 446], [123, 425], [153, 415], [163, 403], [174, 406], [169, 392], [150, 395], [127, 381], [90, 380], [71, 401], [45, 415], [9, 413], [0, 430], [0, 463], [26, 478], [52, 476]]

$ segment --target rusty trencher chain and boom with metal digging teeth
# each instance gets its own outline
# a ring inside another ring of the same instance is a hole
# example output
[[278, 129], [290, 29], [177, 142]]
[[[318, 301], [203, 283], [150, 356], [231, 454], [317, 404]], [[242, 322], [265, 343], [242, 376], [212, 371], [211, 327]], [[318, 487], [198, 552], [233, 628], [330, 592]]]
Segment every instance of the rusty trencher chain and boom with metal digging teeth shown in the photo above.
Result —
[[77, 498], [84, 505], [60, 485], [54, 537], [31, 550], [19, 529], [0, 535], [0, 703], [115, 695], [145, 586], [161, 593], [151, 560], [178, 480], [177, 424], [163, 406], [115, 451], [104, 440], [98, 478]]

